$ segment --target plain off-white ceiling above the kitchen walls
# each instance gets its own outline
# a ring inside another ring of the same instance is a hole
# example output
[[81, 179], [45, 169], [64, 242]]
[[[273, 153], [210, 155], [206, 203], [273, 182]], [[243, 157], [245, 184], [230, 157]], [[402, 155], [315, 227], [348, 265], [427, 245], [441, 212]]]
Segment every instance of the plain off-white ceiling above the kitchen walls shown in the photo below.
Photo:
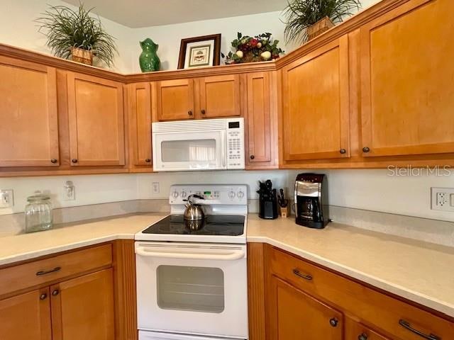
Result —
[[[63, 0], [79, 6], [80, 0]], [[131, 28], [282, 11], [287, 0], [84, 0], [99, 16]]]

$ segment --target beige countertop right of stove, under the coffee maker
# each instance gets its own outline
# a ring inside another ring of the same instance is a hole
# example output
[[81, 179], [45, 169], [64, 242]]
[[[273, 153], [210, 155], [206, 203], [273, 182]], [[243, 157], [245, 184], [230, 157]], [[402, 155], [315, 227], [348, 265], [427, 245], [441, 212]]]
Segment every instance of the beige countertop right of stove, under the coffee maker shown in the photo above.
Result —
[[454, 317], [454, 248], [333, 222], [318, 230], [294, 218], [257, 215], [248, 217], [248, 242], [277, 246]]

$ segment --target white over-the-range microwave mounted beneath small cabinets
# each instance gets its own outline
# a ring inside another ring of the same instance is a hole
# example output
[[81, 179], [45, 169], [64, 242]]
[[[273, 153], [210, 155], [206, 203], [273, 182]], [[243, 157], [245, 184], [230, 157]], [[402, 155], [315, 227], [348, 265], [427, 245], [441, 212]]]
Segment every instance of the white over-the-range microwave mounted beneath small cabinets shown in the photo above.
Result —
[[155, 171], [245, 168], [244, 118], [152, 124]]

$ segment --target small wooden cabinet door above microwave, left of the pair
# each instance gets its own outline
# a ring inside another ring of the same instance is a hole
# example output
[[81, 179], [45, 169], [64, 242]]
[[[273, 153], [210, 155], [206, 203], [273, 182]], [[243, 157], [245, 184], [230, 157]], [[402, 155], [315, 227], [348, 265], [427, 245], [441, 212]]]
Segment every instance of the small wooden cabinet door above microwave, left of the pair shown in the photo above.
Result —
[[157, 81], [157, 120], [194, 119], [194, 80]]

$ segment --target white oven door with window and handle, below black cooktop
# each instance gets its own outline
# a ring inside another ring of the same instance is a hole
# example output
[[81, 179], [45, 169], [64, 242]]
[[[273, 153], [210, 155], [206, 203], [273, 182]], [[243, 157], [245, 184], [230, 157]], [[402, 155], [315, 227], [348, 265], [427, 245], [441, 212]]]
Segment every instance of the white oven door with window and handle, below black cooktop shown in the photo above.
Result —
[[135, 261], [138, 329], [248, 339], [245, 245], [135, 242]]

